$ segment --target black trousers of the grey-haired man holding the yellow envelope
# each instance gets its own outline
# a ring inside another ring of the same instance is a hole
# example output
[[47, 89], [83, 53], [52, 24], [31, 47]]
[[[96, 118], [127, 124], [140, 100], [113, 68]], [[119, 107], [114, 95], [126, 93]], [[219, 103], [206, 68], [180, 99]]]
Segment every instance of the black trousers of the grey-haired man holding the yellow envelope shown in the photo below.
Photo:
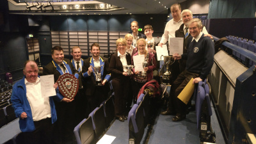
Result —
[[182, 73], [179, 74], [177, 79], [175, 79], [172, 84], [169, 97], [168, 108], [170, 112], [176, 112], [182, 115], [186, 115], [186, 109], [188, 108], [188, 106], [177, 97], [179, 96], [180, 92], [182, 92], [182, 90], [185, 88], [185, 86], [189, 83], [190, 79], [196, 77], [199, 77], [199, 74], [184, 70]]

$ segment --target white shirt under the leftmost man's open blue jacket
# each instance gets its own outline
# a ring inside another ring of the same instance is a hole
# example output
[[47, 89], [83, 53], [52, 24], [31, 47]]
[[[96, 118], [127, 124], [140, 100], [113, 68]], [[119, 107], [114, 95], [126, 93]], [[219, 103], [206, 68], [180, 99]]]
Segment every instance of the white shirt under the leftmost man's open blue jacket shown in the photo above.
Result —
[[25, 79], [26, 96], [31, 108], [33, 121], [51, 118], [51, 106], [49, 97], [42, 97], [40, 78], [37, 77], [35, 83], [29, 83]]

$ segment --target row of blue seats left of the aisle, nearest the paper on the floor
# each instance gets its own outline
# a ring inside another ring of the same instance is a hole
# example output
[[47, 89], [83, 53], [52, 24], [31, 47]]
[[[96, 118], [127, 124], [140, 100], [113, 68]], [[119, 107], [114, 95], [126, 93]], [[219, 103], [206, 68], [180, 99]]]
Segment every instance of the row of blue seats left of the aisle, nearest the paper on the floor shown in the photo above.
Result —
[[77, 144], [96, 143], [114, 119], [115, 107], [113, 95], [111, 95], [74, 128]]

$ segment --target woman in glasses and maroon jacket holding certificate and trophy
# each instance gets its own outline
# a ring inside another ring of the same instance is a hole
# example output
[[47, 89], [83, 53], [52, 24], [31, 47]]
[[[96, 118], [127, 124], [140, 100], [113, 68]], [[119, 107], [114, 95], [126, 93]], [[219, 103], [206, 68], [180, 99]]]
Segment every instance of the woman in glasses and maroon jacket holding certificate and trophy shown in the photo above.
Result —
[[153, 78], [153, 70], [156, 69], [156, 59], [154, 54], [146, 50], [147, 42], [144, 38], [137, 41], [138, 52], [132, 56], [132, 65], [134, 80], [132, 81], [133, 101], [136, 104], [136, 98], [140, 88]]

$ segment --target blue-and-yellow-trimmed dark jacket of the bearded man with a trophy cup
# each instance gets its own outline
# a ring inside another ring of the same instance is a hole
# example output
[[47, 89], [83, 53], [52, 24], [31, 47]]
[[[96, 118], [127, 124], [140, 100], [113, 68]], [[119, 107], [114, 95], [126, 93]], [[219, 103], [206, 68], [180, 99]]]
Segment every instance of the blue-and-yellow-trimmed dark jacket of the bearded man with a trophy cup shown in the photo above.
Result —
[[[94, 70], [91, 73], [91, 75], [88, 75], [88, 68], [92, 65], [94, 67], [93, 58], [87, 58], [84, 60], [83, 70], [85, 71], [83, 73], [84, 77], [84, 83], [85, 83], [85, 93], [86, 95], [93, 95], [95, 91], [95, 73]], [[100, 57], [100, 65], [103, 65], [100, 67], [100, 70], [103, 70], [100, 72], [102, 81], [106, 79], [107, 81], [110, 80], [111, 75], [108, 72], [108, 58]], [[102, 89], [104, 89], [104, 92], [107, 92], [109, 90], [108, 83], [106, 83], [104, 86], [102, 86]]]

